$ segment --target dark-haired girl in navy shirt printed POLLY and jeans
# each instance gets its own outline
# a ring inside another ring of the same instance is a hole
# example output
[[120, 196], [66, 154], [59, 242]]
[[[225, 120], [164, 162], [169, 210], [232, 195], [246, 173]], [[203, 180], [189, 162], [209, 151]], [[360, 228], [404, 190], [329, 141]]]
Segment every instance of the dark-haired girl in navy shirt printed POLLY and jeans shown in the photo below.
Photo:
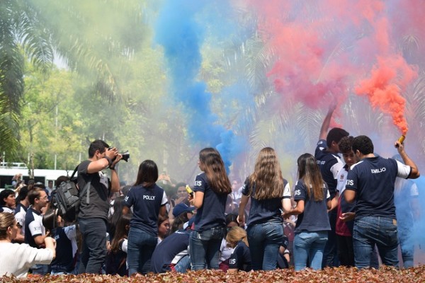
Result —
[[130, 207], [133, 215], [128, 233], [128, 274], [150, 270], [150, 259], [158, 243], [158, 215], [166, 214], [166, 195], [158, 180], [158, 167], [152, 160], [145, 160], [139, 166], [135, 185], [125, 197], [123, 214], [128, 214]]

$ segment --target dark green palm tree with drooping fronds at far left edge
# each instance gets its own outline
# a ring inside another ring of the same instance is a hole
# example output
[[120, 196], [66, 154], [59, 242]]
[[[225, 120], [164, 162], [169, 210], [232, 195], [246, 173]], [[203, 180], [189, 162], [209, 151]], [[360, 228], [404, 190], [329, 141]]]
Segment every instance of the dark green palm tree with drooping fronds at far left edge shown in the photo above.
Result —
[[[47, 73], [53, 59], [49, 34], [29, 1], [0, 1], [0, 150], [16, 154], [23, 95], [24, 54]], [[8, 156], [9, 158], [10, 156]]]

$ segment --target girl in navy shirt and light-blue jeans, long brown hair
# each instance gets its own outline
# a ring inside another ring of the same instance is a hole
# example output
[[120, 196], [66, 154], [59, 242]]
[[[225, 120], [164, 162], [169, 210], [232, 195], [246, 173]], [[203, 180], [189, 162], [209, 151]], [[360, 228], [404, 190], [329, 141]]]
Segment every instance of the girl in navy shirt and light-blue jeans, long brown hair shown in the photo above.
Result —
[[295, 271], [305, 270], [307, 260], [313, 270], [320, 270], [327, 234], [331, 230], [327, 214], [327, 209], [331, 209], [331, 196], [314, 156], [302, 154], [297, 164], [298, 181], [294, 190], [297, 206], [285, 214], [298, 215], [294, 238]]

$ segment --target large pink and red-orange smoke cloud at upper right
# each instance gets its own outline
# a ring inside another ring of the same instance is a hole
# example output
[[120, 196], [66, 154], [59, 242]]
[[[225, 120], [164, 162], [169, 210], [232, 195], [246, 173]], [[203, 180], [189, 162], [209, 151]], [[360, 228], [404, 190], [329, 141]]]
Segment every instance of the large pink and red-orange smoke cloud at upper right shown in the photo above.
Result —
[[[392, 34], [398, 21], [389, 23], [389, 18], [395, 12], [407, 18], [412, 12], [405, 7], [408, 4], [382, 0], [248, 3], [255, 8], [259, 33], [274, 60], [267, 75], [282, 105], [286, 100], [313, 109], [323, 108], [329, 100], [341, 104], [355, 88], [356, 94], [368, 95], [373, 108], [392, 115], [403, 133], [407, 131], [401, 93], [416, 77], [416, 68], [399, 54], [399, 35]], [[410, 21], [416, 24], [419, 19]], [[365, 79], [365, 74], [370, 77]]]

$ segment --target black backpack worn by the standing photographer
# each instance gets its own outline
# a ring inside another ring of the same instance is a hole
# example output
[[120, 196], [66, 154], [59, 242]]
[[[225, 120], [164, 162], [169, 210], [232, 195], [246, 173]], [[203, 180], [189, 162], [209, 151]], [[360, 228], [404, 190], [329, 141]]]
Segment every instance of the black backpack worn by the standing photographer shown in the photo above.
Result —
[[86, 183], [81, 192], [77, 187], [77, 177], [74, 177], [78, 166], [74, 169], [69, 180], [60, 183], [54, 192], [52, 192], [52, 204], [57, 209], [57, 214], [64, 221], [77, 221], [80, 206], [80, 196], [84, 195], [91, 181]]

